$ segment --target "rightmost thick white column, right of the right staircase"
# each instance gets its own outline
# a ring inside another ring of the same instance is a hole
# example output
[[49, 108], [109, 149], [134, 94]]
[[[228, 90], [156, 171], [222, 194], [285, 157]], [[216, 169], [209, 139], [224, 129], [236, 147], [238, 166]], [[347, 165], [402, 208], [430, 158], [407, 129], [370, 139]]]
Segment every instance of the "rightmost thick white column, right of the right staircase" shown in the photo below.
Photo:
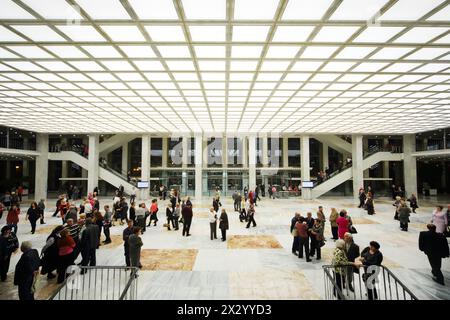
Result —
[[416, 151], [416, 137], [414, 134], [403, 136], [403, 176], [405, 177], [405, 195], [414, 193], [417, 196], [417, 162], [412, 153]]

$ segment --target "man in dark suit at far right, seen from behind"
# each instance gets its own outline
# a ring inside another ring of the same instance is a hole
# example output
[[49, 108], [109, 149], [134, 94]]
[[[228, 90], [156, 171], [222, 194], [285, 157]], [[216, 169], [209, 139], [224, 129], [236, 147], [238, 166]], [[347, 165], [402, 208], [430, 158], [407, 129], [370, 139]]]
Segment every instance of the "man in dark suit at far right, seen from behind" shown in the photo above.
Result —
[[445, 285], [441, 264], [442, 258], [449, 257], [447, 239], [443, 234], [436, 232], [434, 224], [428, 224], [427, 228], [428, 231], [422, 231], [419, 235], [419, 250], [428, 256], [433, 280], [441, 285]]

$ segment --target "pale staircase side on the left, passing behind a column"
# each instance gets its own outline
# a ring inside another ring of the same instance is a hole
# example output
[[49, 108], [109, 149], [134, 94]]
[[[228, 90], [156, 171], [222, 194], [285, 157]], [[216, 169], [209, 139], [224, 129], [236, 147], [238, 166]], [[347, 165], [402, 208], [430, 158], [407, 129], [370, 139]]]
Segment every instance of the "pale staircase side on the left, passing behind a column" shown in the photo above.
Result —
[[[72, 161], [83, 169], [89, 170], [89, 161], [87, 158], [74, 151], [49, 152], [48, 159], [54, 161]], [[99, 167], [98, 177], [109, 184], [118, 188], [120, 185], [124, 187], [127, 194], [131, 194], [135, 185], [127, 181], [127, 178], [109, 167]]]

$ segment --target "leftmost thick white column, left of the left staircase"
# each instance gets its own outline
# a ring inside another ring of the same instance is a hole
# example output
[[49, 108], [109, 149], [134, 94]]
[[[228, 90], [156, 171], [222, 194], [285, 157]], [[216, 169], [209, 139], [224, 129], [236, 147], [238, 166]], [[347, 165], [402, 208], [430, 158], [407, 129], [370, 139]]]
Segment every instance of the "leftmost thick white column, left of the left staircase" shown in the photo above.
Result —
[[36, 156], [36, 173], [34, 186], [34, 200], [47, 198], [48, 183], [48, 135], [36, 134], [36, 151], [40, 154]]

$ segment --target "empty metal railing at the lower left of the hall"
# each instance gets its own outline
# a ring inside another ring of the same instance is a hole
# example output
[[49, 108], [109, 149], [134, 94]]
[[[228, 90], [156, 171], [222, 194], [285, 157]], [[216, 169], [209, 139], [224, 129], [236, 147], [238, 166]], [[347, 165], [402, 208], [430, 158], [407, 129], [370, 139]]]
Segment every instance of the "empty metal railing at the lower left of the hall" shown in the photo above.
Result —
[[136, 300], [138, 268], [71, 266], [50, 300]]

